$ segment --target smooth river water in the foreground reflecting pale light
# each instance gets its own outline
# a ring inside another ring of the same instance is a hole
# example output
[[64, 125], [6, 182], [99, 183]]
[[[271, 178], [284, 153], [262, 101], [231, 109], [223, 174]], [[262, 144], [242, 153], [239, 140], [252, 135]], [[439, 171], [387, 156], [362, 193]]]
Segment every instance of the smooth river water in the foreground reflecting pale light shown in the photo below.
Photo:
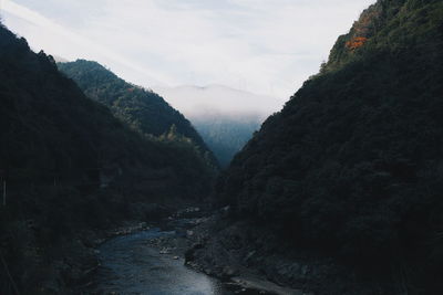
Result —
[[99, 268], [93, 293], [148, 295], [220, 295], [222, 284], [184, 265], [182, 259], [162, 255], [147, 241], [174, 232], [153, 229], [119, 236], [99, 250]]

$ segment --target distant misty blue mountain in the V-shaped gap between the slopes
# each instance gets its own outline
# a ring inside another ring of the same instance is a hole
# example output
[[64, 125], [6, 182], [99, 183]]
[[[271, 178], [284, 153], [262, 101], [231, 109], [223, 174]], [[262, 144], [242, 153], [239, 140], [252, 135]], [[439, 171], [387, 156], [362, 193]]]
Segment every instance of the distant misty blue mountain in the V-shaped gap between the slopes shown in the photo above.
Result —
[[154, 87], [193, 123], [222, 166], [253, 137], [282, 102], [222, 85]]

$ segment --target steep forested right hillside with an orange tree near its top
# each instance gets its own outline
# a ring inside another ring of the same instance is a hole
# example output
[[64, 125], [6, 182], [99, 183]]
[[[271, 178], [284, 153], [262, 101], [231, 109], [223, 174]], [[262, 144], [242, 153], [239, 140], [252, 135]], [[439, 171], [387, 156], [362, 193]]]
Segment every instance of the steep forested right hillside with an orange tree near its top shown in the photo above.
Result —
[[437, 294], [442, 114], [443, 2], [379, 0], [236, 156], [217, 201], [293, 246], [401, 265], [408, 287]]

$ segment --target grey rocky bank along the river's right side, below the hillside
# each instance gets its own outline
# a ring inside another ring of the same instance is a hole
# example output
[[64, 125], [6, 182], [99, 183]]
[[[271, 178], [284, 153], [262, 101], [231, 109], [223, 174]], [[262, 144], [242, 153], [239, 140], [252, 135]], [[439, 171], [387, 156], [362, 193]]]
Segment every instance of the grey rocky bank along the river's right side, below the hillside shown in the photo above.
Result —
[[[229, 209], [193, 229], [186, 264], [225, 282], [269, 294], [398, 294], [391, 272], [357, 267], [316, 249], [295, 247], [266, 222], [234, 219]], [[302, 241], [299, 242], [302, 244]]]

